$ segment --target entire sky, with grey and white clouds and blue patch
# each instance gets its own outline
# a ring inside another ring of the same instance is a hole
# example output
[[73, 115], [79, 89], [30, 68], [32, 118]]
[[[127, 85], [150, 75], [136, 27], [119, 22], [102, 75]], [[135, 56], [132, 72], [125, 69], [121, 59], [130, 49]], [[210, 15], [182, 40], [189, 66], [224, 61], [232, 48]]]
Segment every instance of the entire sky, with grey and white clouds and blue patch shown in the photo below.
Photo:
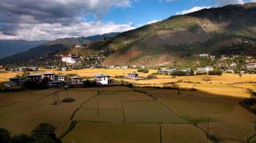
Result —
[[171, 15], [256, 0], [1, 0], [0, 39], [53, 40], [128, 31]]

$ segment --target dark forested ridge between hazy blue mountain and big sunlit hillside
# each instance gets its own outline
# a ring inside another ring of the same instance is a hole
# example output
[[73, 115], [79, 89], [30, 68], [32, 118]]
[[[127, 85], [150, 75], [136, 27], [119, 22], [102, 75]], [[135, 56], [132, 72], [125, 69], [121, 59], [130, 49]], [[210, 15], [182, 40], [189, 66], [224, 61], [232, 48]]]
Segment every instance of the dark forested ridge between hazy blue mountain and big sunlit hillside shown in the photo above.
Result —
[[45, 42], [42, 45], [33, 47], [29, 50], [17, 53], [15, 55], [10, 55], [4, 57], [0, 60], [0, 63], [12, 64], [12, 63], [27, 63], [28, 61], [42, 58], [47, 61], [47, 58], [52, 58], [55, 53], [64, 51], [69, 47], [74, 47], [75, 45], [84, 45], [90, 42], [96, 42], [99, 40], [108, 39], [112, 36], [116, 36], [118, 33], [109, 33], [95, 36], [81, 36], [78, 38], [64, 38], [56, 39], [54, 41]]

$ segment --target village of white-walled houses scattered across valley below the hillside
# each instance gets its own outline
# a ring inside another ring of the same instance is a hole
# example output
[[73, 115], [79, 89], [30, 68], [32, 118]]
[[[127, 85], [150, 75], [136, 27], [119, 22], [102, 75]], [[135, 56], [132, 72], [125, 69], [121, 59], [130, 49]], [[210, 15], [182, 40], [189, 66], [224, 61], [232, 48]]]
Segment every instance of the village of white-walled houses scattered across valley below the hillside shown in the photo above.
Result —
[[[78, 45], [77, 45], [78, 46]], [[72, 53], [69, 53], [69, 55], [59, 55], [61, 56], [61, 62], [65, 63], [65, 66], [60, 67], [53, 67], [53, 69], [57, 68], [57, 71], [72, 71], [73, 66], [79, 65], [83, 58], [80, 55], [75, 55]], [[196, 76], [196, 75], [222, 75], [222, 73], [225, 74], [239, 74], [240, 76], [242, 74], [255, 74], [256, 69], [256, 63], [255, 59], [252, 56], [246, 56], [246, 60], [244, 61], [244, 65], [238, 65], [236, 63], [235, 59], [238, 58], [238, 55], [221, 55], [219, 59], [215, 55], [210, 55], [208, 53], [201, 53], [197, 55], [200, 60], [206, 60], [206, 61], [219, 61], [216, 62], [213, 66], [197, 66], [194, 69], [189, 68], [169, 68], [167, 66], [159, 67], [157, 72], [153, 73], [155, 75], [168, 75], [172, 77], [176, 76]], [[153, 76], [148, 76], [148, 78], [143, 78], [139, 76], [139, 73], [147, 73], [148, 69], [150, 67], [146, 66], [116, 66], [116, 65], [101, 65], [100, 58], [95, 55], [89, 55], [89, 57], [86, 58], [87, 60], [93, 59], [97, 60], [97, 64], [87, 66], [89, 69], [138, 69], [137, 72], [133, 71], [132, 73], [128, 73], [127, 75], [121, 76], [121, 78], [124, 79], [133, 79], [133, 80], [146, 80], [150, 79]], [[95, 63], [95, 61], [94, 61]], [[238, 67], [239, 66], [239, 67]], [[45, 73], [39, 73], [39, 67], [32, 66], [32, 67], [18, 67], [18, 68], [12, 68], [10, 71], [18, 71], [18, 72], [24, 72], [23, 77], [12, 77], [10, 78], [9, 82], [5, 82], [4, 86], [9, 88], [15, 85], [22, 86], [26, 82], [42, 82], [46, 81], [48, 88], [68, 88], [71, 85], [72, 86], [78, 86], [83, 85], [83, 82], [86, 80], [94, 81], [97, 83], [97, 85], [111, 85], [110, 75], [101, 73], [101, 74], [95, 74], [94, 79], [84, 79], [84, 77], [79, 77], [77, 75], [73, 76], [67, 76], [65, 74], [54, 74], [53, 72], [45, 72]], [[36, 72], [33, 74], [30, 74], [29, 71]]]

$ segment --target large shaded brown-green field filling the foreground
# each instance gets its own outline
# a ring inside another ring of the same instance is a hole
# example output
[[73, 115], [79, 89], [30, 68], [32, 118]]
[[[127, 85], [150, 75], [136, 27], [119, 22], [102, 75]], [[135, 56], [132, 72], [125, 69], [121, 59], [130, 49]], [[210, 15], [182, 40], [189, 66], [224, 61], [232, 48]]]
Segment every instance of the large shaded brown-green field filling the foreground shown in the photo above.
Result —
[[[0, 93], [0, 128], [29, 134], [51, 123], [64, 143], [254, 142], [256, 115], [238, 104], [243, 98], [219, 94], [126, 87]], [[75, 101], [62, 102], [67, 97]]]

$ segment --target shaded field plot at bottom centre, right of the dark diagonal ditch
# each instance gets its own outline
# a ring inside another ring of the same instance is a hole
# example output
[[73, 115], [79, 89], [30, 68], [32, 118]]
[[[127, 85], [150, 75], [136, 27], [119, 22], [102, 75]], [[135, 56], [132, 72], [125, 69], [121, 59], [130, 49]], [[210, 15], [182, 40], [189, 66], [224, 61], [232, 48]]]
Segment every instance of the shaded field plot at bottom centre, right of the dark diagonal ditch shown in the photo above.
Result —
[[159, 140], [159, 124], [80, 122], [63, 142], [143, 143]]

